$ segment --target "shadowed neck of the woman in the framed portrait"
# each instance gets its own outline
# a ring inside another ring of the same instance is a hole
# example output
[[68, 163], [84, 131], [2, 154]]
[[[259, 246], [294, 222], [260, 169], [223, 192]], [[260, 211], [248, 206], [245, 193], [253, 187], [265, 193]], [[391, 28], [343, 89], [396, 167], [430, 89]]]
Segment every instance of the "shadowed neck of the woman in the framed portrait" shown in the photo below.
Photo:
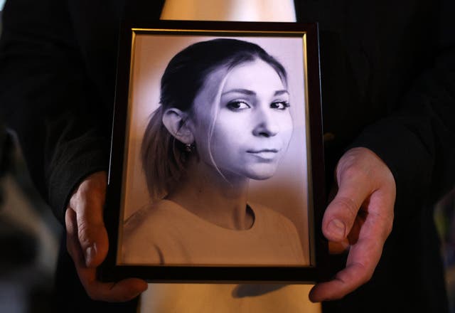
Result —
[[245, 230], [254, 222], [247, 189], [248, 179], [227, 180], [208, 164], [191, 161], [186, 177], [166, 198], [210, 223]]

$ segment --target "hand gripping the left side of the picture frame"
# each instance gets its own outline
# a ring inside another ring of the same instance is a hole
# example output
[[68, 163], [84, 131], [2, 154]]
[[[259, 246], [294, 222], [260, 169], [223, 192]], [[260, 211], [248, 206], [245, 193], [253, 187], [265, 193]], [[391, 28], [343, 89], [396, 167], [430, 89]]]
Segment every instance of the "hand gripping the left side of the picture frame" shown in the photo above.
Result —
[[104, 171], [87, 177], [77, 187], [65, 213], [66, 245], [77, 275], [95, 300], [123, 302], [147, 289], [144, 280], [129, 278], [119, 282], [100, 282], [96, 270], [107, 255], [109, 242], [103, 222], [107, 175]]

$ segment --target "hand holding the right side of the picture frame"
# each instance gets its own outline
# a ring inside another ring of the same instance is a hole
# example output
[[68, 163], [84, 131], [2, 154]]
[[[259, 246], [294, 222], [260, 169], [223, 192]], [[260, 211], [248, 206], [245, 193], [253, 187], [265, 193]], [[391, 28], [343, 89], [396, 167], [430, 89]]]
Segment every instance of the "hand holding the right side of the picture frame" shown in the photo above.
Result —
[[346, 267], [332, 280], [316, 284], [312, 302], [340, 299], [370, 280], [392, 231], [395, 179], [370, 149], [350, 149], [336, 168], [338, 192], [326, 208], [322, 231], [349, 249]]

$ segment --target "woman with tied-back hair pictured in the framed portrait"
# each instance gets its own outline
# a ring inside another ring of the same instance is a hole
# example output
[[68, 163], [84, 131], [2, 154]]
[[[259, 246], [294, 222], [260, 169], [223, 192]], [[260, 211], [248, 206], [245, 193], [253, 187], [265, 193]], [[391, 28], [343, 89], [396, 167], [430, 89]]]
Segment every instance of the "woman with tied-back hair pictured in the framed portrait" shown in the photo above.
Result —
[[287, 73], [255, 43], [215, 39], [176, 54], [141, 157], [151, 204], [124, 225], [128, 264], [308, 265], [289, 218], [248, 200], [293, 122]]

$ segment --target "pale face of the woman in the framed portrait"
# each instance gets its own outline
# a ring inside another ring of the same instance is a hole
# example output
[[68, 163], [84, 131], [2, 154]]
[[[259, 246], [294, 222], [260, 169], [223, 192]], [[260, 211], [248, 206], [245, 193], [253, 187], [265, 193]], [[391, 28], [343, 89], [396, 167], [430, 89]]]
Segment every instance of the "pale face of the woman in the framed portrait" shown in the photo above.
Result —
[[[200, 160], [228, 180], [268, 179], [291, 139], [287, 87], [274, 68], [259, 59], [237, 65], [227, 76], [224, 73], [215, 70], [208, 75], [195, 98], [193, 133]], [[215, 121], [213, 105], [218, 105]]]

